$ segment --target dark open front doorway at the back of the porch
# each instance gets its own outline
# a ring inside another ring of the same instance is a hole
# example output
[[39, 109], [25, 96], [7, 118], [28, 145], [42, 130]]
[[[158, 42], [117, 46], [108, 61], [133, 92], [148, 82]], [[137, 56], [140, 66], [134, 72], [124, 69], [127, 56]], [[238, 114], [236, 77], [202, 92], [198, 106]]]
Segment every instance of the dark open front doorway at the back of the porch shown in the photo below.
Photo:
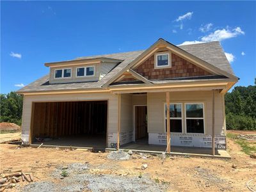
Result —
[[135, 106], [135, 141], [148, 143], [147, 106]]

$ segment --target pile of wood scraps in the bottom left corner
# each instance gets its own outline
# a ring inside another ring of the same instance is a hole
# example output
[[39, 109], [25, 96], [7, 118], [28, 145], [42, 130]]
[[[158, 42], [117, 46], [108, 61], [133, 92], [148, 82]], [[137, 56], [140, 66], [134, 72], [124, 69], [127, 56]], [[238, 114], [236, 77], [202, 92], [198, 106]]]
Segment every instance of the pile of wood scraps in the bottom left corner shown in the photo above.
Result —
[[22, 170], [6, 170], [4, 173], [1, 174], [2, 179], [0, 179], [0, 188], [1, 191], [7, 188], [13, 188], [16, 186], [17, 182], [22, 181], [33, 181], [33, 174], [32, 173], [24, 173]]

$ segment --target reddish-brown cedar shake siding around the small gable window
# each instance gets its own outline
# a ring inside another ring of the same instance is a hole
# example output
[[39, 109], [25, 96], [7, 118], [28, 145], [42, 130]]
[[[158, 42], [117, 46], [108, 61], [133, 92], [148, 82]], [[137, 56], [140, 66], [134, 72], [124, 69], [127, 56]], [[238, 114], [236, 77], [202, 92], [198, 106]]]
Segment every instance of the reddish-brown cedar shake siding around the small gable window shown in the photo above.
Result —
[[154, 68], [154, 55], [134, 68], [141, 76], [147, 79], [170, 79], [176, 77], [209, 76], [211, 73], [203, 70], [189, 61], [186, 61], [172, 53], [172, 67]]

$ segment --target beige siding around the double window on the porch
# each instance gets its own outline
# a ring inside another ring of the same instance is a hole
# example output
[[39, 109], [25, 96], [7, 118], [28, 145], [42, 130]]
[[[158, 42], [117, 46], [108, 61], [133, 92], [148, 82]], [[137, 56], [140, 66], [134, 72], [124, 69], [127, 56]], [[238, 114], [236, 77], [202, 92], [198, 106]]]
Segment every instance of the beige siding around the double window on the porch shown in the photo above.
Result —
[[[148, 132], [164, 131], [164, 103], [165, 93], [148, 93]], [[212, 133], [212, 92], [170, 92], [170, 102], [181, 102], [184, 106], [186, 102], [204, 102], [205, 134]], [[183, 107], [183, 132], [185, 126], [185, 110]], [[222, 134], [225, 123], [223, 120], [223, 107], [221, 94], [215, 94], [215, 133]]]

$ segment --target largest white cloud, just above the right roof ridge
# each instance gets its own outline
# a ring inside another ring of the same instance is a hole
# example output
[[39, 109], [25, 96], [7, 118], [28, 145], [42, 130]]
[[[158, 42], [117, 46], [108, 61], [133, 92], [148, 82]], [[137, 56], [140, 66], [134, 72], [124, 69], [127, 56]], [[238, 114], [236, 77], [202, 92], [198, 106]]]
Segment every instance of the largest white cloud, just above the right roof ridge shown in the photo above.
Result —
[[209, 35], [203, 36], [201, 40], [203, 42], [212, 42], [212, 41], [221, 41], [227, 38], [233, 38], [238, 35], [244, 35], [244, 31], [241, 28], [237, 27], [235, 29], [218, 29]]

